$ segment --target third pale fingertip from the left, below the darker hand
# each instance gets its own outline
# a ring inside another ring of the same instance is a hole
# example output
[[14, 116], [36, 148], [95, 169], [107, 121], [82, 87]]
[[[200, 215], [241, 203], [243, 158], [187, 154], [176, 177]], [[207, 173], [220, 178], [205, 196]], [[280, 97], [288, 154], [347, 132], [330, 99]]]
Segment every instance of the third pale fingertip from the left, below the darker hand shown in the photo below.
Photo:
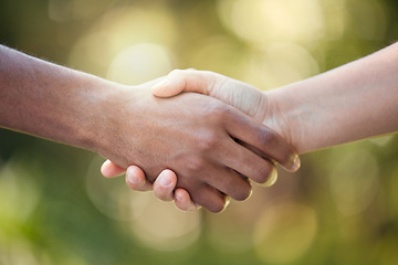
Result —
[[163, 201], [171, 201], [174, 189], [177, 184], [177, 176], [169, 169], [160, 172], [154, 182], [154, 193]]

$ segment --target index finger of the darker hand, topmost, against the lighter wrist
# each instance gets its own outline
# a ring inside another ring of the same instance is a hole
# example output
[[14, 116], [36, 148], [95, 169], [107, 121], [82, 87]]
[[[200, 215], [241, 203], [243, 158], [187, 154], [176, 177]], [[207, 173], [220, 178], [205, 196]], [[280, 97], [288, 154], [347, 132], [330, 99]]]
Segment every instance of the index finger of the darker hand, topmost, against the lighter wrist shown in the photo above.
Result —
[[224, 120], [232, 137], [256, 148], [262, 157], [274, 159], [289, 171], [300, 168], [297, 153], [277, 132], [234, 108], [231, 108]]

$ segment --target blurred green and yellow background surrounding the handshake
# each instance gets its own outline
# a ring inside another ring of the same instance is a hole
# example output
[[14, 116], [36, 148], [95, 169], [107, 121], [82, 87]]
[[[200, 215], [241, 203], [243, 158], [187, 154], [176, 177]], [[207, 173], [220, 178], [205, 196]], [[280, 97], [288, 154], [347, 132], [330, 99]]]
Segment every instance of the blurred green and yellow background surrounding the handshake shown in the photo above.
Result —
[[[195, 67], [272, 89], [397, 39], [396, 0], [0, 1], [2, 44], [133, 85]], [[0, 264], [396, 265], [397, 147], [308, 153], [245, 202], [185, 213], [94, 153], [1, 129]]]

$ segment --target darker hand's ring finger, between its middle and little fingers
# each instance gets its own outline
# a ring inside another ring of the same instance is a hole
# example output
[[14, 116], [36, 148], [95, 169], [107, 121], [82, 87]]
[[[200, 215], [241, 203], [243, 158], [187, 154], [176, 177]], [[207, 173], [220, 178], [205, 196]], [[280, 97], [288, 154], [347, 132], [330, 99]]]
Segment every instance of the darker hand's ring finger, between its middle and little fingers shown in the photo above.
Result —
[[252, 192], [248, 178], [242, 177], [230, 168], [219, 170], [217, 176], [205, 177], [205, 181], [238, 201], [247, 200]]

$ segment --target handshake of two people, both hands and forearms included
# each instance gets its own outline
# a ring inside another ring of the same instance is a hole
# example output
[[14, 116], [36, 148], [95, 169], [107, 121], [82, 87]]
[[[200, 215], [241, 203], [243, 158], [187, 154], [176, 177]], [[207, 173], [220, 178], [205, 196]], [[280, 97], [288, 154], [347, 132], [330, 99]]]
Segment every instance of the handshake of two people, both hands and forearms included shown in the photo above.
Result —
[[[182, 210], [221, 211], [298, 153], [398, 131], [398, 44], [269, 92], [206, 71], [127, 86], [0, 45], [0, 127], [95, 151]], [[155, 96], [154, 96], [154, 95]], [[167, 98], [166, 98], [167, 97]]]

